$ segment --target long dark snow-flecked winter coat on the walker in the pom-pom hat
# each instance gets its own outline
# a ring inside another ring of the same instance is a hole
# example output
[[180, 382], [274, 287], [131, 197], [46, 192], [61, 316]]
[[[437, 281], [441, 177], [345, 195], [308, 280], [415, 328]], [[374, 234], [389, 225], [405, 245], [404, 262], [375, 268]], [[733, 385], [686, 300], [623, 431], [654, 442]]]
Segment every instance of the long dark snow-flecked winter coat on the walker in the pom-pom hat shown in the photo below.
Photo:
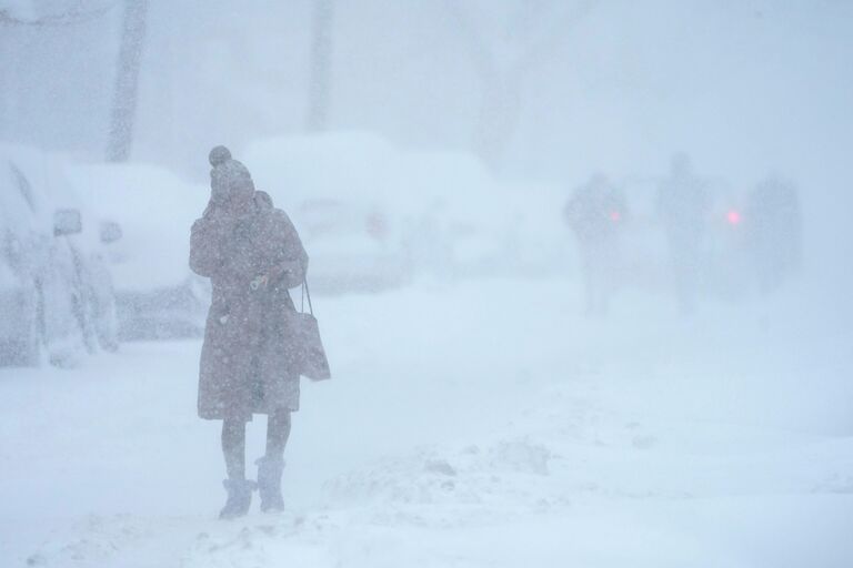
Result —
[[[299, 409], [288, 288], [302, 283], [308, 255], [284, 212], [263, 192], [255, 192], [241, 217], [208, 207], [192, 225], [190, 267], [213, 285], [201, 349], [199, 416], [250, 420], [253, 413]], [[253, 284], [271, 272], [281, 276], [265, 286]]]

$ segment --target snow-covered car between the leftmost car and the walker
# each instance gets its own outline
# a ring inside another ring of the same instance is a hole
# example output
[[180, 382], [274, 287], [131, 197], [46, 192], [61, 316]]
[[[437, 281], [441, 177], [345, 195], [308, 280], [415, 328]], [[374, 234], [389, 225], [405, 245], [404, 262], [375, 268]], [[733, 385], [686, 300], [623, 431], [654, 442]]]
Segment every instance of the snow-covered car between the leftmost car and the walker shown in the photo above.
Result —
[[[189, 268], [189, 231], [210, 191], [168, 170], [89, 164], [69, 170], [102, 220], [122, 341], [203, 334], [210, 285]], [[110, 235], [121, 233], [121, 239]]]

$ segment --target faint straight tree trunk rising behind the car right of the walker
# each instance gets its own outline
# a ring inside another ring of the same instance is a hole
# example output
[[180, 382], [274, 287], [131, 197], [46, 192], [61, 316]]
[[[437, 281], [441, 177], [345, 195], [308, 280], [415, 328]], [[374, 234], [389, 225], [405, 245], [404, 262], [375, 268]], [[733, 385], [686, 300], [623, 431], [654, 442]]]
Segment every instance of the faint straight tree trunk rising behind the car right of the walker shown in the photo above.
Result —
[[329, 121], [332, 72], [332, 20], [334, 0], [314, 0], [311, 31], [311, 69], [308, 91], [309, 132], [322, 132]]

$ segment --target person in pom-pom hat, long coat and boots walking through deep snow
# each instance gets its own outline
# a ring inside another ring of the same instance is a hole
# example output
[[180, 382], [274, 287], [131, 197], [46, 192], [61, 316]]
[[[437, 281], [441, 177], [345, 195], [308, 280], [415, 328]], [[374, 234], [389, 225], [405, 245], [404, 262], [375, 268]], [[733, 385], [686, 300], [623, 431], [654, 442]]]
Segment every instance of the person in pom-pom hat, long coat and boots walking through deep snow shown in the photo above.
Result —
[[[190, 243], [190, 267], [213, 286], [198, 403], [200, 417], [223, 420], [228, 501], [220, 518], [233, 518], [248, 513], [255, 486], [261, 510], [284, 506], [284, 445], [290, 413], [299, 409], [288, 288], [302, 283], [308, 255], [293, 224], [254, 190], [243, 164], [223, 146], [211, 151], [210, 163], [210, 204], [193, 223]], [[245, 478], [245, 423], [253, 414], [268, 415], [257, 484]]]

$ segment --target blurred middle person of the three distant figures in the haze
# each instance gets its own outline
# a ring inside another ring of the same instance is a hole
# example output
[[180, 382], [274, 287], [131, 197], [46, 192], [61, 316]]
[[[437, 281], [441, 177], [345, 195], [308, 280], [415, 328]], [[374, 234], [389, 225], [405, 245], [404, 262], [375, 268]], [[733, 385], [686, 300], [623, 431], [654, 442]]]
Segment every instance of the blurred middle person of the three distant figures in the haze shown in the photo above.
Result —
[[694, 175], [686, 154], [672, 159], [658, 192], [658, 213], [666, 233], [672, 280], [682, 313], [692, 313], [699, 292], [702, 242], [711, 202], [706, 183]]

